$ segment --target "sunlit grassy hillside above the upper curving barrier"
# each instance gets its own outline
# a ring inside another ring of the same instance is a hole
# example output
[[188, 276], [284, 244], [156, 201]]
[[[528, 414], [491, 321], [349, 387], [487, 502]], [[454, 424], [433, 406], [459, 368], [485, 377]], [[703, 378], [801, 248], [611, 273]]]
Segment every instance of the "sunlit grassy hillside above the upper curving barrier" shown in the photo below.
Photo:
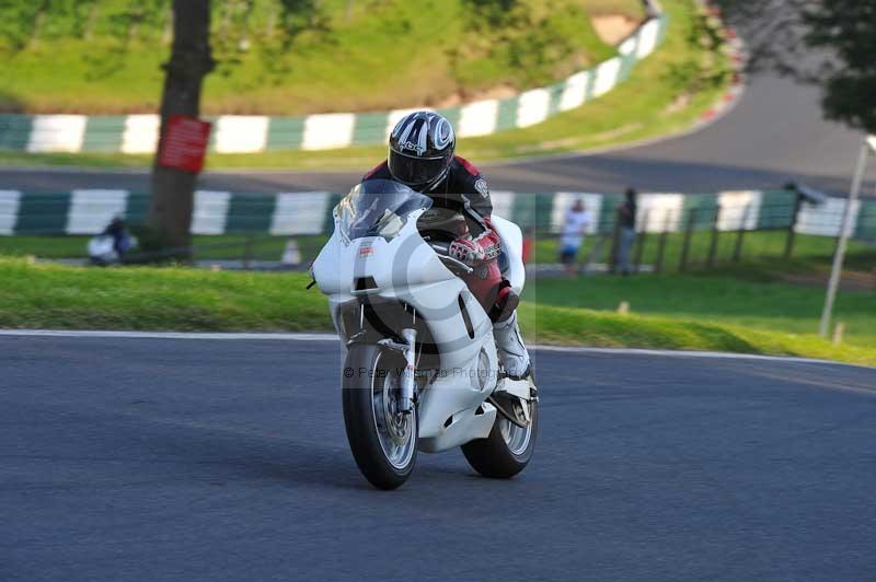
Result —
[[[303, 115], [437, 106], [549, 83], [615, 54], [595, 14], [644, 18], [635, 0], [232, 0], [214, 2], [217, 69], [203, 110]], [[284, 4], [289, 7], [288, 12]], [[249, 7], [249, 8], [247, 8]], [[0, 108], [158, 109], [166, 2], [11, 0], [0, 7]]]

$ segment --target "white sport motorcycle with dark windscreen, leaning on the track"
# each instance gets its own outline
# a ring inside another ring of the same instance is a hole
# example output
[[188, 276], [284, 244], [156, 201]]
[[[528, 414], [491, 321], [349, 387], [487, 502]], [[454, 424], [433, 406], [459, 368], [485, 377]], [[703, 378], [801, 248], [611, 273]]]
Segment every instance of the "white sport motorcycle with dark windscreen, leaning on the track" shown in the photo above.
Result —
[[[531, 376], [505, 374], [484, 309], [448, 256], [448, 223], [429, 197], [394, 182], [356, 186], [334, 210], [335, 230], [312, 266], [346, 348], [342, 392], [353, 456], [365, 477], [395, 489], [417, 451], [461, 446], [487, 477], [509, 478], [532, 457], [539, 426]], [[522, 236], [493, 216], [503, 275], [520, 293]]]

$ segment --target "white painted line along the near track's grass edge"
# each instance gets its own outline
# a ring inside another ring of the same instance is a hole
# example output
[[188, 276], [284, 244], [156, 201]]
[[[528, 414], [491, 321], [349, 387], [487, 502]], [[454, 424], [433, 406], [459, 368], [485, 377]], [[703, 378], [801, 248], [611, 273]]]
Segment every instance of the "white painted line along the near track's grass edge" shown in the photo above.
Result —
[[[62, 337], [62, 338], [115, 338], [115, 339], [193, 339], [193, 340], [268, 340], [268, 341], [338, 341], [335, 334], [252, 334], [252, 333], [187, 333], [187, 331], [78, 331], [68, 329], [0, 329], [0, 337]], [[794, 362], [852, 368], [871, 366], [797, 358], [792, 356], [762, 356], [757, 353], [731, 353], [723, 351], [658, 350], [644, 348], [588, 348], [584, 346], [530, 345], [530, 351], [565, 353], [599, 353], [606, 356], [659, 356], [668, 358], [702, 358], [714, 360], [759, 360], [765, 362]]]

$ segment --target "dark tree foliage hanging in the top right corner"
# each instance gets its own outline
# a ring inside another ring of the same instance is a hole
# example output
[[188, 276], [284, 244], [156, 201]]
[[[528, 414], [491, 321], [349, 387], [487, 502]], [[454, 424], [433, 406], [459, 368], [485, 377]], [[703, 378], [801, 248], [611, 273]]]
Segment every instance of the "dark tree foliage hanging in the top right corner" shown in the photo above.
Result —
[[750, 68], [822, 89], [825, 117], [876, 133], [876, 1], [721, 0]]

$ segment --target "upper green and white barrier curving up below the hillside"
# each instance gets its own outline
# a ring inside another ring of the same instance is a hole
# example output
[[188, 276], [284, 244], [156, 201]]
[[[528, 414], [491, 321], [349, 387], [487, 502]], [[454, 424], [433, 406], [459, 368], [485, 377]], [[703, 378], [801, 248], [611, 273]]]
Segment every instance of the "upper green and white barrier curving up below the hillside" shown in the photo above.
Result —
[[[549, 86], [502, 100], [483, 100], [438, 109], [460, 138], [529, 127], [577, 108], [626, 80], [666, 34], [666, 15], [644, 22], [618, 45], [618, 56]], [[306, 117], [227, 115], [214, 123], [209, 150], [256, 153], [272, 150], [326, 150], [383, 143], [410, 109]], [[153, 153], [158, 115], [0, 115], [0, 149], [28, 152]]]

